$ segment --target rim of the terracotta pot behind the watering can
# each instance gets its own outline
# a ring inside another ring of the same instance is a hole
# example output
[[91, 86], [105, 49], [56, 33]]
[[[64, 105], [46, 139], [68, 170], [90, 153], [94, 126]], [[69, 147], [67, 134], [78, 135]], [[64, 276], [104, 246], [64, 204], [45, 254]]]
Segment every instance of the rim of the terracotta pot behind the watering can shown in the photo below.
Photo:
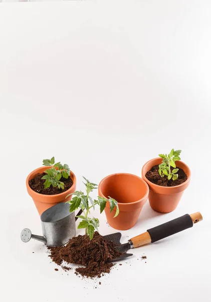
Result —
[[[72, 186], [71, 186], [68, 190], [66, 190], [65, 192], [62, 192], [62, 193], [59, 193], [59, 194], [47, 195], [47, 194], [38, 193], [38, 192], [34, 191], [34, 190], [30, 187], [30, 185], [29, 185], [29, 180], [30, 180], [32, 174], [35, 174], [35, 175], [36, 175], [36, 174], [40, 173], [39, 171], [40, 171], [41, 169], [43, 170], [43, 168], [45, 168], [45, 170], [50, 169], [50, 167], [42, 166], [42, 167], [40, 167], [40, 168], [37, 168], [37, 169], [33, 170], [33, 171], [27, 176], [26, 184], [27, 184], [28, 193], [29, 193], [29, 194], [32, 193], [32, 194], [35, 195], [35, 196], [45, 196], [45, 198], [48, 198], [48, 199], [51, 199], [53, 196], [65, 196], [65, 195], [68, 195], [67, 193], [68, 193], [68, 192], [74, 187], [74, 185], [76, 184], [76, 176], [75, 176], [75, 174], [74, 174], [71, 170], [70, 170], [70, 176], [73, 176], [73, 178], [71, 177], [71, 179], [72, 179], [72, 181], [73, 181], [73, 184], [72, 184]], [[42, 172], [42, 173], [43, 173], [43, 172]], [[31, 196], [31, 194], [30, 194], [30, 196]]]

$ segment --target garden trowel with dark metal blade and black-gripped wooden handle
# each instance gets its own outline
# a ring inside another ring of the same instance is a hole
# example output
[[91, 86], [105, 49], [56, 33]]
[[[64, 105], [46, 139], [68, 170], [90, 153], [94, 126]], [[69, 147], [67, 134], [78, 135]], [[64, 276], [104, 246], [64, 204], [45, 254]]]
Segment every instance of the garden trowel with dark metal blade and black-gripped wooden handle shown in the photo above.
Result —
[[165, 222], [155, 228], [147, 230], [147, 232], [140, 234], [136, 237], [128, 240], [127, 243], [121, 244], [120, 239], [121, 233], [114, 233], [104, 236], [105, 239], [112, 241], [116, 244], [116, 250], [122, 252], [123, 254], [115, 259], [112, 259], [110, 262], [122, 260], [124, 258], [130, 257], [133, 254], [126, 253], [129, 249], [137, 248], [147, 243], [153, 243], [178, 232], [184, 231], [188, 228], [192, 228], [193, 224], [202, 220], [200, 212], [193, 214], [185, 214], [181, 217], [173, 219], [171, 221]]

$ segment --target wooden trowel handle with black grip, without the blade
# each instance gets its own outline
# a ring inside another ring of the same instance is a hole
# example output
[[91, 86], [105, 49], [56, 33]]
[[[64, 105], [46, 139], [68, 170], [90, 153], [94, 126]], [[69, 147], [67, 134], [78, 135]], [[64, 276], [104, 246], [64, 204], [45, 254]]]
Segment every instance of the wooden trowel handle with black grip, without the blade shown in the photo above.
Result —
[[129, 242], [132, 248], [136, 248], [150, 242], [153, 243], [165, 237], [191, 228], [194, 223], [201, 220], [202, 216], [200, 212], [196, 212], [190, 215], [185, 214], [181, 217], [155, 226], [155, 228], [149, 229], [147, 230], [147, 232], [131, 238]]

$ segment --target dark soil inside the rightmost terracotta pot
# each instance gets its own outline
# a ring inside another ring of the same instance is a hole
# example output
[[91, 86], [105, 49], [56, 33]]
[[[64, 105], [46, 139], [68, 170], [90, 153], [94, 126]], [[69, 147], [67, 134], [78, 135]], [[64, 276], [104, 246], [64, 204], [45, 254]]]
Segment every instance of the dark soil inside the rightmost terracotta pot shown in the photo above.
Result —
[[[182, 184], [187, 180], [187, 175], [184, 173], [184, 171], [178, 167], [176, 167], [178, 170], [178, 178], [176, 180], [168, 180], [167, 176], [161, 177], [158, 169], [159, 166], [153, 166], [148, 172], [146, 172], [145, 176], [146, 178], [151, 181], [153, 184], [163, 187], [174, 187]], [[173, 169], [173, 168], [172, 168]]]

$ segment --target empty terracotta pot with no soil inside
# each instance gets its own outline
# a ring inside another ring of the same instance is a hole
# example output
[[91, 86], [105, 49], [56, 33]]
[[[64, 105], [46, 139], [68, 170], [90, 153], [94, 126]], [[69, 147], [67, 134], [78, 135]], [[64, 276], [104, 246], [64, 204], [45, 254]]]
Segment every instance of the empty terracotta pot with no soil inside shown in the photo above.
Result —
[[146, 203], [149, 188], [140, 177], [117, 173], [101, 180], [98, 193], [101, 197], [116, 199], [119, 215], [114, 218], [116, 207], [110, 213], [110, 204], [106, 203], [105, 214], [108, 223], [116, 230], [128, 230], [135, 225], [143, 205]]

